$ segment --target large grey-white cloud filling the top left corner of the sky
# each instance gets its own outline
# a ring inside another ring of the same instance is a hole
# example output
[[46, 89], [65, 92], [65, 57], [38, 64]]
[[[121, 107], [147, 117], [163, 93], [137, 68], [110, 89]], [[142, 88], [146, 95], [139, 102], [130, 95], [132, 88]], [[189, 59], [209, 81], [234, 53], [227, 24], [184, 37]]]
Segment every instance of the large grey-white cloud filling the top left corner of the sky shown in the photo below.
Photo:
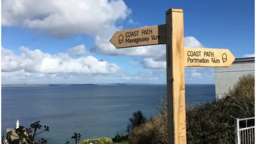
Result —
[[[36, 6], [35, 6], [36, 5]], [[2, 25], [21, 25], [48, 31], [54, 36], [96, 36], [131, 10], [122, 0], [3, 0]]]

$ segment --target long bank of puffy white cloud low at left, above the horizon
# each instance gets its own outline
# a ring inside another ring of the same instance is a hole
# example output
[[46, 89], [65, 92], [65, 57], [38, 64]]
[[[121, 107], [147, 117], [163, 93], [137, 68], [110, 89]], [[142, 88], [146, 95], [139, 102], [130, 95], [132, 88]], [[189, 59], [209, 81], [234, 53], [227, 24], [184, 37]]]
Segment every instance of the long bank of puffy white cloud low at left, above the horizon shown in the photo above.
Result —
[[2, 72], [24, 71], [24, 73], [77, 73], [77, 74], [111, 74], [121, 67], [115, 63], [98, 60], [91, 55], [77, 59], [70, 58], [66, 53], [51, 55], [41, 50], [31, 51], [20, 47], [21, 55], [2, 47]]

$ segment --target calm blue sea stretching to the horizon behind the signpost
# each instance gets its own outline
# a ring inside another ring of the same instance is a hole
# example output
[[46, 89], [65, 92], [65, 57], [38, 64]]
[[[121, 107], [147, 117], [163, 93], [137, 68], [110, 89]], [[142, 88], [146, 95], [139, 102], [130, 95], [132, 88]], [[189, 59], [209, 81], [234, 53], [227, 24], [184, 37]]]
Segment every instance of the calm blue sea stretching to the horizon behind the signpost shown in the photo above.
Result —
[[[113, 138], [125, 133], [128, 118], [142, 110], [156, 115], [160, 96], [166, 97], [166, 85], [70, 85], [47, 87], [2, 87], [2, 132], [38, 120], [50, 131], [38, 135], [48, 143], [65, 143], [74, 132], [82, 139]], [[211, 101], [214, 85], [186, 85], [186, 105]]]

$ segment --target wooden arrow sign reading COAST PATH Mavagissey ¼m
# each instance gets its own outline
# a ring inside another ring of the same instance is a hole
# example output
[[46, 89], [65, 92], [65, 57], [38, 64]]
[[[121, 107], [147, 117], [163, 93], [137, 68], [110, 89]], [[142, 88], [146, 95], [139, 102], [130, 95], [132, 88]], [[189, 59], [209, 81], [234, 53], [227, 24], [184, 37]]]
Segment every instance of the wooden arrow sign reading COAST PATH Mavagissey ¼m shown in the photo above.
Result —
[[145, 46], [166, 43], [166, 26], [135, 28], [116, 31], [110, 42], [118, 49], [124, 47]]

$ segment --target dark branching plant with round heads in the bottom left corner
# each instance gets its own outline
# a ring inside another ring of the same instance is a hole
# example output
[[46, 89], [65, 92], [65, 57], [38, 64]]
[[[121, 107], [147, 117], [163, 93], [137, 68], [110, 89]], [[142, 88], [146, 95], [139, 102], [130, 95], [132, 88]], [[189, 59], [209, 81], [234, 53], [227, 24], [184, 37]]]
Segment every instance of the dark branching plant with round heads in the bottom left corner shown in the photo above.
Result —
[[27, 142], [29, 144], [34, 144], [34, 143], [45, 144], [45, 143], [47, 143], [47, 140], [44, 139], [44, 138], [42, 138], [41, 140], [38, 140], [38, 142], [35, 141], [36, 135], [38, 135], [38, 134], [40, 134], [42, 132], [45, 132], [45, 131], [49, 131], [49, 126], [45, 125], [44, 126], [44, 130], [37, 133], [37, 131], [39, 129], [41, 129], [41, 128], [42, 128], [42, 125], [40, 124], [40, 121], [32, 123], [29, 128], [25, 128], [23, 126], [19, 126], [18, 129], [15, 129], [15, 132], [18, 134], [18, 136], [14, 135], [13, 131], [9, 131], [6, 134], [6, 138], [9, 139], [11, 137], [11, 135], [12, 135], [13, 137], [17, 137], [18, 138], [17, 140], [14, 140], [13, 143], [22, 143], [23, 144], [23, 143]]

